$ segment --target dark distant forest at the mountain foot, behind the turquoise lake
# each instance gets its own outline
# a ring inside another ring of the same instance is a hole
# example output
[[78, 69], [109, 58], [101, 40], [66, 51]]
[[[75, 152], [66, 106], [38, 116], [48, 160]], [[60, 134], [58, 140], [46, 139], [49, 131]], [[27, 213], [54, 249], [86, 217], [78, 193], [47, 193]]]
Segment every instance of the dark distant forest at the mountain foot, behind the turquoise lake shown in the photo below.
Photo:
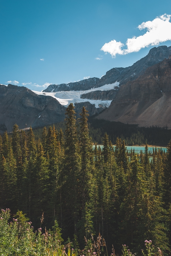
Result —
[[[54, 124], [57, 130], [62, 129], [65, 132], [65, 122]], [[49, 126], [46, 126], [48, 129]], [[103, 144], [105, 132], [109, 136], [112, 144], [116, 143], [116, 139], [121, 138], [128, 146], [134, 145], [157, 145], [167, 146], [171, 138], [171, 129], [167, 126], [150, 126], [138, 127], [137, 124], [123, 124], [121, 122], [110, 122], [104, 119], [96, 119], [92, 116], [88, 117], [88, 128], [93, 143]], [[36, 140], [41, 139], [42, 129], [40, 127], [33, 128]]]

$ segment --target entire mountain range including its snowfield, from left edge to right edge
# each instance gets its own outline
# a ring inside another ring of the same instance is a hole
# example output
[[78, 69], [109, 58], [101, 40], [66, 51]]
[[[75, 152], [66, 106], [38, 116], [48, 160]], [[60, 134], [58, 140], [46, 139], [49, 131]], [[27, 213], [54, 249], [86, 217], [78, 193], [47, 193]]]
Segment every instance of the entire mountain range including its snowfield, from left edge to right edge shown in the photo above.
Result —
[[71, 102], [77, 116], [85, 106], [90, 116], [99, 114], [98, 118], [106, 120], [171, 127], [169, 55], [171, 46], [154, 47], [130, 67], [112, 68], [100, 79], [51, 84], [43, 92], [1, 84], [0, 131], [10, 132], [15, 123], [22, 129], [26, 124], [35, 127], [60, 122]]

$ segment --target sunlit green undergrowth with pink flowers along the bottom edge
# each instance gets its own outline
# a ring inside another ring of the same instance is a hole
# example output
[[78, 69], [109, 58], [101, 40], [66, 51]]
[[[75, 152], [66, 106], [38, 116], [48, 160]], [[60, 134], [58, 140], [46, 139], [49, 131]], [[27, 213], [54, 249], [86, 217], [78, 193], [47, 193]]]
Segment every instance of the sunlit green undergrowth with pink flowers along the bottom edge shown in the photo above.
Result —
[[[106, 242], [102, 236], [97, 237], [97, 241], [93, 236], [90, 240], [85, 238], [85, 249], [73, 249], [70, 242], [63, 245], [61, 237], [61, 229], [58, 227], [57, 221], [51, 230], [46, 230], [42, 233], [41, 228], [38, 231], [33, 231], [32, 222], [27, 221], [25, 215], [18, 211], [18, 219], [12, 219], [10, 222], [10, 209], [1, 209], [0, 214], [0, 255], [7, 256], [100, 256], [107, 255], [108, 250]], [[146, 253], [142, 250], [144, 256], [154, 255], [154, 245], [152, 241], [145, 240]], [[111, 256], [115, 255], [115, 250], [112, 248]], [[163, 256], [162, 251], [158, 248], [159, 256]], [[128, 247], [124, 244], [122, 256], [135, 256]]]

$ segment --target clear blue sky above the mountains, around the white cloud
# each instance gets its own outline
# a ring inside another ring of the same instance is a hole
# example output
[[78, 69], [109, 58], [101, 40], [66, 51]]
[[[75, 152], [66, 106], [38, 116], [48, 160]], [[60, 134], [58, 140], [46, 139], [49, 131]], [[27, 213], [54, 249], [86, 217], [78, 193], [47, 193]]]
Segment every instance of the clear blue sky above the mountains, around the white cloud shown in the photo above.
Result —
[[0, 83], [41, 91], [130, 66], [154, 46], [113, 57], [100, 49], [112, 40], [126, 49], [128, 38], [146, 33], [140, 24], [165, 13], [170, 0], [0, 0]]

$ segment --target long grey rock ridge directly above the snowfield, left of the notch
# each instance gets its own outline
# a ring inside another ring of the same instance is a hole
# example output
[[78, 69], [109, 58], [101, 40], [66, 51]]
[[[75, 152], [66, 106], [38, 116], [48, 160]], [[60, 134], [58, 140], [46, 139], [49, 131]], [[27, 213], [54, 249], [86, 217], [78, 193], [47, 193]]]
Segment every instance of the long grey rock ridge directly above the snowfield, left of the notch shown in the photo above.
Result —
[[69, 84], [50, 84], [43, 92], [84, 91], [92, 89], [100, 78], [93, 77]]

